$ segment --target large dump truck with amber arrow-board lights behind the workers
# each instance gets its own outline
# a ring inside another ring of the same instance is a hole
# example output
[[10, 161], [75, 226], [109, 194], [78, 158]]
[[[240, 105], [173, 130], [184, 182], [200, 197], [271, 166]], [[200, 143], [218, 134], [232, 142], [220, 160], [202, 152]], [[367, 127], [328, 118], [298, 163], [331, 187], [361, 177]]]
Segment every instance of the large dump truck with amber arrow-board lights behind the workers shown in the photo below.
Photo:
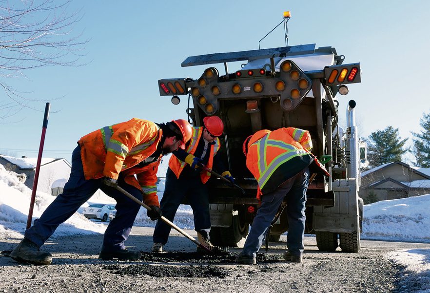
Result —
[[[359, 63], [343, 64], [344, 59], [335, 48], [315, 44], [214, 53], [190, 56], [181, 64], [206, 65], [199, 77], [158, 80], [160, 95], [171, 96], [173, 104], [179, 104], [178, 96], [188, 96], [186, 112], [193, 126], [203, 126], [203, 118], [212, 115], [224, 123], [219, 152], [245, 192], [215, 176], [207, 183], [215, 245], [243, 241], [258, 209], [257, 182], [246, 167], [244, 140], [261, 129], [291, 126], [309, 130], [312, 152], [331, 174], [316, 175], [309, 185], [305, 233], [316, 235], [321, 251], [360, 250], [363, 201], [357, 192], [355, 102], [349, 102], [344, 130], [338, 126], [336, 96], [349, 91], [347, 84], [361, 82], [361, 69]], [[240, 68], [231, 71], [229, 63], [237, 62]], [[278, 241], [286, 231], [287, 215], [281, 213], [266, 237]]]

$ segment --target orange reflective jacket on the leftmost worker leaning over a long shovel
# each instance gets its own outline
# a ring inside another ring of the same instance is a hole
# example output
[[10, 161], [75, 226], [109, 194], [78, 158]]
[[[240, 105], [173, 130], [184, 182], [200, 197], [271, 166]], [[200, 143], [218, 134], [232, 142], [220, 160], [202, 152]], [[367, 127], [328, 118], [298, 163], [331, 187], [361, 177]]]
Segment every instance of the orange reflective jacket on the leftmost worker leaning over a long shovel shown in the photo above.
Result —
[[156, 173], [161, 155], [149, 165], [134, 166], [156, 151], [161, 136], [162, 130], [154, 122], [137, 118], [85, 135], [78, 141], [85, 179], [118, 179], [122, 172], [127, 184], [146, 194], [145, 204], [159, 206]]

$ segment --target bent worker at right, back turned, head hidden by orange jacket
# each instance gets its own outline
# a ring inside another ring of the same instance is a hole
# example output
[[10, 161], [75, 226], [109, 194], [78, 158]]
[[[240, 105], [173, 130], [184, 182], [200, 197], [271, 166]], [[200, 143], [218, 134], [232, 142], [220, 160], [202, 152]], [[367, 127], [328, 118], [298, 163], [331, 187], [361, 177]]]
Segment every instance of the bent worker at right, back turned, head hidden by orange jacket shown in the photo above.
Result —
[[243, 251], [236, 258], [237, 263], [256, 263], [256, 253], [284, 198], [289, 224], [288, 251], [284, 253], [284, 259], [301, 262], [309, 168], [329, 176], [324, 166], [311, 154], [311, 149], [309, 131], [293, 127], [259, 130], [243, 143], [246, 166], [257, 180], [257, 198], [261, 205]]

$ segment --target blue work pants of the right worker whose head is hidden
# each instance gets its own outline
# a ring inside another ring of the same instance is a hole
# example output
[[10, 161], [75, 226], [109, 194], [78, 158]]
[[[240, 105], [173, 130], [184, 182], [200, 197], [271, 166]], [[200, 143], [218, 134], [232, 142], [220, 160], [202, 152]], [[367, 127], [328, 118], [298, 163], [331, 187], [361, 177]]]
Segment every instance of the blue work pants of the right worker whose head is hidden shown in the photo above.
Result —
[[253, 225], [246, 238], [243, 254], [256, 256], [284, 198], [287, 201], [288, 251], [297, 256], [302, 254], [304, 250], [303, 237], [305, 233], [306, 190], [308, 189], [308, 183], [309, 169], [306, 167], [273, 192], [261, 195], [261, 206], [257, 210]]

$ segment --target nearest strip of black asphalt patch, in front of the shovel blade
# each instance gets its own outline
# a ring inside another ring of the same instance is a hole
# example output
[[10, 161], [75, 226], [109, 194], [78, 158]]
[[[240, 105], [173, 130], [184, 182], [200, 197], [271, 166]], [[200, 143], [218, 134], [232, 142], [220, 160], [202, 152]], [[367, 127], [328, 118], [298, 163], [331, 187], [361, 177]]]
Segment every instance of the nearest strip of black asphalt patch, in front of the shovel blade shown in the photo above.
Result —
[[105, 270], [119, 275], [149, 275], [152, 277], [225, 278], [230, 272], [218, 266], [108, 265]]

